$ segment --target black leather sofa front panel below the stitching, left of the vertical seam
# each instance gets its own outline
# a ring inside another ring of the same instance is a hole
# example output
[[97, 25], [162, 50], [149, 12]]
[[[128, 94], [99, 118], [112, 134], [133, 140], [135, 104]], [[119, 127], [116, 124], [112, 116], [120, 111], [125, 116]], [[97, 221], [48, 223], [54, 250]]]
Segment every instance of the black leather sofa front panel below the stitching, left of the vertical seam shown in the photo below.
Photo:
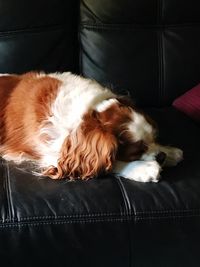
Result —
[[[105, 235], [106, 233], [106, 235]], [[130, 266], [128, 223], [54, 223], [0, 231], [4, 266]]]

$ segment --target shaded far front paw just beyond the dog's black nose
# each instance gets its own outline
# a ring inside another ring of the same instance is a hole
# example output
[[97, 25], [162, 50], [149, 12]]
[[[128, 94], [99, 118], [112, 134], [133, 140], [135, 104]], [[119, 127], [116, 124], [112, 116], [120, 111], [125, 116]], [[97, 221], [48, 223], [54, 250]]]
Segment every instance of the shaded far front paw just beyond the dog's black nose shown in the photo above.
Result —
[[176, 147], [168, 147], [166, 153], [166, 159], [164, 166], [176, 166], [183, 160], [183, 151]]

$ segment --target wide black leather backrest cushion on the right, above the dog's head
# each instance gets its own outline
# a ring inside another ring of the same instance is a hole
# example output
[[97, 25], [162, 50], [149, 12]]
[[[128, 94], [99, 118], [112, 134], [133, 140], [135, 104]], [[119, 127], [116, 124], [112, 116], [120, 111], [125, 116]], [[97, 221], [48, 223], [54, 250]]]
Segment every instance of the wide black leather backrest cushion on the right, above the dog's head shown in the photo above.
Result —
[[170, 105], [200, 81], [199, 9], [197, 0], [82, 0], [82, 73], [139, 105]]

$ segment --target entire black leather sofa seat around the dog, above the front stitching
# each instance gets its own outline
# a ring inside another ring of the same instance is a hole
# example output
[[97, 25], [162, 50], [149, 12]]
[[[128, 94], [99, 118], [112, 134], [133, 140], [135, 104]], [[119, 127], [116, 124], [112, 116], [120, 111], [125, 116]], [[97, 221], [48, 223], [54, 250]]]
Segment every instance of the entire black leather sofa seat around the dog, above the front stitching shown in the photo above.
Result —
[[184, 151], [184, 161], [159, 183], [112, 175], [90, 181], [54, 181], [1, 162], [1, 227], [200, 215], [200, 127], [173, 107], [148, 109], [159, 141]]

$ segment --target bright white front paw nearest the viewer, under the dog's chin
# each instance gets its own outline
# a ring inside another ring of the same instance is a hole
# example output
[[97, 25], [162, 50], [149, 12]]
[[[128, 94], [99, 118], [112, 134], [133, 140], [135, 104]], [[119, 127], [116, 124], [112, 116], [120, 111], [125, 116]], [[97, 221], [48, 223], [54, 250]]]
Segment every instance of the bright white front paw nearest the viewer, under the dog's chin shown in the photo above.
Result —
[[161, 167], [156, 161], [118, 162], [113, 172], [137, 182], [156, 183], [160, 179]]

